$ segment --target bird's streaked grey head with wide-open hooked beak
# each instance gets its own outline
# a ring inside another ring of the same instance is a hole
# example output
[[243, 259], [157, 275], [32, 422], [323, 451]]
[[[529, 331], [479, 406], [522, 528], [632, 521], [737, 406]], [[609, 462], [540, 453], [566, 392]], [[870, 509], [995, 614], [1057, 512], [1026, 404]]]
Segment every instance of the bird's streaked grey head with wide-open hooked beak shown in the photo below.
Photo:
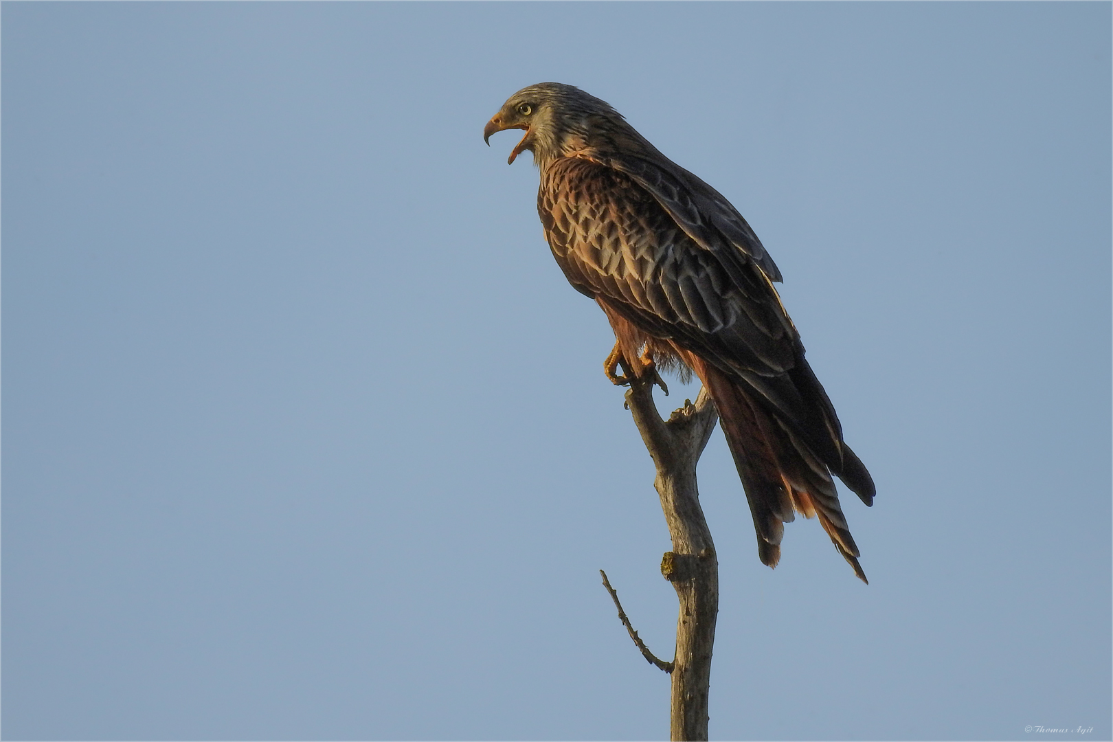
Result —
[[622, 115], [607, 101], [570, 85], [541, 82], [519, 90], [503, 103], [483, 127], [483, 141], [490, 145], [495, 131], [525, 129], [506, 161], [513, 162], [528, 149], [533, 161], [544, 167], [559, 157], [591, 148], [599, 133], [615, 127], [629, 129]]

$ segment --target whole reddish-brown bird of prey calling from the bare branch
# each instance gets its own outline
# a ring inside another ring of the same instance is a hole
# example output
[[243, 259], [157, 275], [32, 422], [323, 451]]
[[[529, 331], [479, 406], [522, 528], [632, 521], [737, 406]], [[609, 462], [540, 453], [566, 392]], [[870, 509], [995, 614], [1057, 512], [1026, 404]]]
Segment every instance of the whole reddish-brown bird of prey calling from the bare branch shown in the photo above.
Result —
[[[818, 517], [868, 584], [833, 475], [867, 506], [874, 481], [843, 439], [775, 283], [780, 270], [741, 214], [608, 102], [559, 82], [511, 96], [483, 129], [525, 133], [538, 214], [569, 283], [614, 330], [604, 373], [659, 383], [695, 374], [710, 394], [754, 516], [758, 558], [780, 561], [784, 524]], [[619, 366], [622, 372], [619, 372]]]

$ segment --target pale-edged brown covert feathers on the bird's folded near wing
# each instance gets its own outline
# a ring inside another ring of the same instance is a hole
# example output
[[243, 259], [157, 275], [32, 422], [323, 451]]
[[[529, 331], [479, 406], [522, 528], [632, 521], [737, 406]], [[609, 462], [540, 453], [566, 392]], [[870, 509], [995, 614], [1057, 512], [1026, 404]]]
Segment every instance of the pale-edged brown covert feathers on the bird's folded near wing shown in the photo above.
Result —
[[569, 281], [612, 299], [630, 321], [736, 373], [795, 365], [796, 329], [761, 271], [700, 248], [629, 176], [558, 160], [542, 174], [538, 210]]

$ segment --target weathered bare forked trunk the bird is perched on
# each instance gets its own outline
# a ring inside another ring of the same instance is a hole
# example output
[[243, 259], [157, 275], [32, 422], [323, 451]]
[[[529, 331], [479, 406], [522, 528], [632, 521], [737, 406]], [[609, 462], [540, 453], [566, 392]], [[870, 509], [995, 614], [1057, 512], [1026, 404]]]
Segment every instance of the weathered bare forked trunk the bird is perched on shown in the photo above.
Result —
[[680, 600], [677, 653], [670, 663], [670, 739], [706, 740], [711, 647], [719, 613], [719, 562], [699, 504], [696, 464], [718, 415], [707, 389], [700, 390], [695, 405], [686, 403], [668, 421], [657, 412], [653, 384], [648, 379], [633, 379], [626, 398], [657, 466], [653, 486], [672, 537], [672, 551], [661, 561], [661, 574]]

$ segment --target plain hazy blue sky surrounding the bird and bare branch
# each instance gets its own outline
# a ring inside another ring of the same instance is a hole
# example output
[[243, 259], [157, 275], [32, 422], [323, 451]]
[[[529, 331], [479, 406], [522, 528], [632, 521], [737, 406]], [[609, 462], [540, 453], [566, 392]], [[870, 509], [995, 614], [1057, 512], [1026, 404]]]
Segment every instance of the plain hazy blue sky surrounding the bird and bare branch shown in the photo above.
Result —
[[869, 586], [770, 571], [715, 434], [712, 736], [1110, 739], [1110, 29], [6, 2], [3, 736], [667, 738], [652, 465], [482, 141], [556, 80], [746, 215], [877, 482]]

